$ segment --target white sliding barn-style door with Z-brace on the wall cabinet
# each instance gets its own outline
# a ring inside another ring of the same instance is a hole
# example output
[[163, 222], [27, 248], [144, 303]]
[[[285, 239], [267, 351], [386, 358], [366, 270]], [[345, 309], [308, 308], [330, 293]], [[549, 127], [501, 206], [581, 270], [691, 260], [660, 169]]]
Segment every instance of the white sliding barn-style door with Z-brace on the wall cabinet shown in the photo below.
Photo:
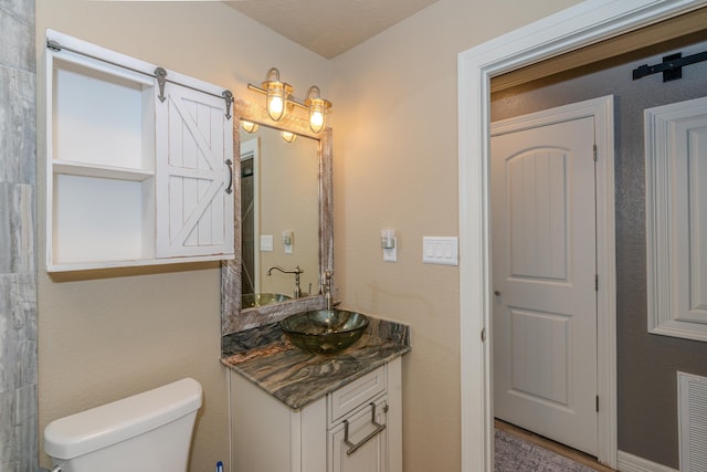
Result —
[[155, 98], [157, 255], [232, 254], [233, 118], [223, 98], [170, 82], [165, 95]]

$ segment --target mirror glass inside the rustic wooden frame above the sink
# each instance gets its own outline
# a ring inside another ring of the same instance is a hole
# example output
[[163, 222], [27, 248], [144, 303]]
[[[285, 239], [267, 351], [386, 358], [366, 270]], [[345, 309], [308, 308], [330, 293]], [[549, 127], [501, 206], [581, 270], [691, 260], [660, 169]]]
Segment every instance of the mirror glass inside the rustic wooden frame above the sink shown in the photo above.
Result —
[[241, 129], [243, 310], [319, 291], [319, 143]]

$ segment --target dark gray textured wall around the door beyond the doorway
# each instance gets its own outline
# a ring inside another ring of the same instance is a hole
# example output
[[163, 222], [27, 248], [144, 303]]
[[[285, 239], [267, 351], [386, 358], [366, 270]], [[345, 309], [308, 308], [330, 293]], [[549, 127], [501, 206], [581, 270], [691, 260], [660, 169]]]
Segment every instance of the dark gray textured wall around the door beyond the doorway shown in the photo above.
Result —
[[643, 109], [707, 95], [707, 62], [667, 83], [661, 74], [633, 81], [632, 70], [673, 52], [703, 52], [706, 39], [707, 33], [695, 34], [492, 97], [496, 120], [614, 95], [619, 449], [674, 469], [676, 371], [707, 376], [707, 343], [647, 333]]

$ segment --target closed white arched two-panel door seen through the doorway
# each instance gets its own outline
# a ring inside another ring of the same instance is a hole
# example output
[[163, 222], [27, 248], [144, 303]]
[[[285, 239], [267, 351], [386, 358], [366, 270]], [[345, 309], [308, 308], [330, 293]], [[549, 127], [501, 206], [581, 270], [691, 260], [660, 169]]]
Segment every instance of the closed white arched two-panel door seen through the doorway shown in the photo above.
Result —
[[597, 455], [594, 118], [494, 135], [494, 413]]

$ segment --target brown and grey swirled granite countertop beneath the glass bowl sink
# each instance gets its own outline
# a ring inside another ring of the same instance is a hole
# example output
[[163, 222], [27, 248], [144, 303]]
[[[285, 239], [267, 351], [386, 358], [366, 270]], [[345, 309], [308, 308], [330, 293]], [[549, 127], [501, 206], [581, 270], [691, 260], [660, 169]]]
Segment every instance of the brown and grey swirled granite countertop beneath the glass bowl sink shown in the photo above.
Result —
[[300, 350], [272, 323], [223, 336], [221, 363], [298, 410], [410, 352], [408, 326], [368, 318], [363, 336], [331, 356]]

